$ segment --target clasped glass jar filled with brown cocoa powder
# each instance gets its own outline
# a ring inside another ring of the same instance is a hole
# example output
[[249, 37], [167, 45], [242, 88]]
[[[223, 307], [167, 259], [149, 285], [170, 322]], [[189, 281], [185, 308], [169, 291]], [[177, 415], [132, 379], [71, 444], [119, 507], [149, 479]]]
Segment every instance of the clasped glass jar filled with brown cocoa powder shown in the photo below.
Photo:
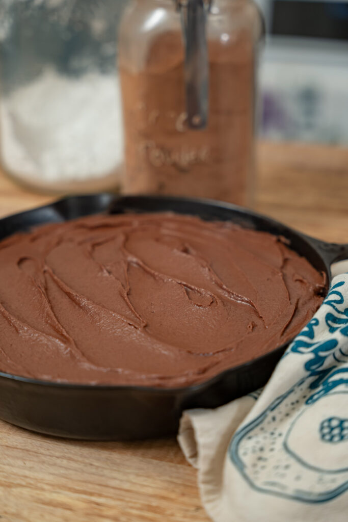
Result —
[[250, 204], [262, 35], [251, 0], [130, 0], [118, 49], [127, 193]]

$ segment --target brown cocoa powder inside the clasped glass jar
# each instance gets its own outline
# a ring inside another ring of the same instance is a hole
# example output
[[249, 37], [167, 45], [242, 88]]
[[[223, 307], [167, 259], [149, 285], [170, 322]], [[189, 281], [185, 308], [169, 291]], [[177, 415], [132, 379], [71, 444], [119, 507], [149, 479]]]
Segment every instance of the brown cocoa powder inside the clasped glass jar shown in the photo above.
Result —
[[180, 32], [157, 35], [142, 70], [119, 63], [127, 193], [249, 203], [254, 141], [254, 42], [241, 29], [208, 41], [209, 118], [188, 128]]

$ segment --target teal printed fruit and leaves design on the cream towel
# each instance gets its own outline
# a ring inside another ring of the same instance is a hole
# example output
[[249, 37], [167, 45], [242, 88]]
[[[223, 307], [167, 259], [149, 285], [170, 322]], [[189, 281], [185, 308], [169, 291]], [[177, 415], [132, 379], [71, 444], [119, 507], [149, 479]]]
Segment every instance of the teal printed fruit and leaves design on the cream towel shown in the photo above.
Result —
[[348, 490], [344, 284], [331, 288], [325, 317], [311, 319], [284, 355], [283, 364], [303, 356], [303, 377], [232, 438], [230, 459], [259, 492], [317, 503]]

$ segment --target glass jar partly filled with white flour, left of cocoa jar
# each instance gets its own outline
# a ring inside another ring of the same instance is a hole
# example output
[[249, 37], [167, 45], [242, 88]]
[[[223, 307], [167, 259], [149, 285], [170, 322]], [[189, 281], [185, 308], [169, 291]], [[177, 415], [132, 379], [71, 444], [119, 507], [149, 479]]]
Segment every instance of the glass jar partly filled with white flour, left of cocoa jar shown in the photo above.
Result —
[[2, 168], [45, 192], [117, 188], [115, 21], [126, 0], [0, 3]]

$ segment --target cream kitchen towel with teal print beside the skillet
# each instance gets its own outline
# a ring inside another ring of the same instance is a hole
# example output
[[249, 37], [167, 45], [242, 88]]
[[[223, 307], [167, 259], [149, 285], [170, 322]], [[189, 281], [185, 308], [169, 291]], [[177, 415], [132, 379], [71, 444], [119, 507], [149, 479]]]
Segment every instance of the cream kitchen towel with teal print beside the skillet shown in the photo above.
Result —
[[346, 522], [348, 274], [263, 390], [186, 411], [178, 441], [215, 522]]

